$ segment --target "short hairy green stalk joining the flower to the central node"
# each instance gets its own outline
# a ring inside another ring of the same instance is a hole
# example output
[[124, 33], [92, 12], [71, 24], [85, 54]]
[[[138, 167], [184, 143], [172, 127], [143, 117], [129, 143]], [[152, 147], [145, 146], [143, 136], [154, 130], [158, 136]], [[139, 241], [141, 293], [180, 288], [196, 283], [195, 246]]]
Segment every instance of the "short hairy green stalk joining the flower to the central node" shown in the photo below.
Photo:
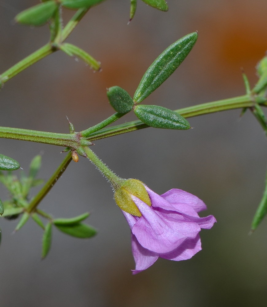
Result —
[[99, 171], [110, 181], [113, 188], [119, 188], [122, 185], [124, 179], [116, 176], [107, 166], [103, 163], [99, 157], [88, 147], [83, 147], [86, 152], [87, 158], [99, 169]]

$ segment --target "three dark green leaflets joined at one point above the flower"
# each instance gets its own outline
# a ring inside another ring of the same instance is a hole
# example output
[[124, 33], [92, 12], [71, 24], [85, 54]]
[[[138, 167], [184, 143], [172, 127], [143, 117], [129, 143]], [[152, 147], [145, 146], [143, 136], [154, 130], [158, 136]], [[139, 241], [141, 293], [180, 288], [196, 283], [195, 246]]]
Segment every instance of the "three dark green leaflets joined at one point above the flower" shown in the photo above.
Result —
[[135, 91], [134, 99], [121, 87], [110, 87], [107, 96], [115, 111], [126, 114], [134, 109], [142, 122], [155, 128], [189, 129], [189, 122], [172, 110], [155, 105], [135, 104], [155, 91], [176, 70], [193, 48], [197, 36], [196, 32], [188, 34], [164, 50], [145, 72]]

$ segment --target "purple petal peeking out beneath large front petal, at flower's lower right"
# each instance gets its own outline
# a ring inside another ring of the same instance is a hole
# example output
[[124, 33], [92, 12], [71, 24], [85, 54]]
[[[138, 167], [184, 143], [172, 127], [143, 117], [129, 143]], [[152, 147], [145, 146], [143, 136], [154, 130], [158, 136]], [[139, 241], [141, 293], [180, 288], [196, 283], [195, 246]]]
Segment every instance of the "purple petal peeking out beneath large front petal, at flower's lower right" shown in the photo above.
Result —
[[200, 236], [197, 235], [195, 239], [187, 239], [177, 247], [174, 251], [167, 254], [160, 254], [161, 258], [180, 261], [192, 258], [197, 252], [201, 251]]

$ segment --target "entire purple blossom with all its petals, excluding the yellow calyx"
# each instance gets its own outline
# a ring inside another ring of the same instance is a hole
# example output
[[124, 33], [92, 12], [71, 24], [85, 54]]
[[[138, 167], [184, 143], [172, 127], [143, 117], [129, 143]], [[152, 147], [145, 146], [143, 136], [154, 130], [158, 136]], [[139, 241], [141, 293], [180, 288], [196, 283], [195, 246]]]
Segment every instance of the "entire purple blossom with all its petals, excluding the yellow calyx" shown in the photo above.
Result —
[[[144, 185], [145, 186], [145, 185]], [[132, 251], [137, 274], [159, 258], [180, 261], [192, 258], [201, 250], [199, 232], [210, 229], [215, 217], [199, 217], [207, 209], [197, 196], [179, 189], [158, 195], [147, 186], [151, 207], [131, 195], [142, 216], [133, 216], [122, 210], [132, 231]]]

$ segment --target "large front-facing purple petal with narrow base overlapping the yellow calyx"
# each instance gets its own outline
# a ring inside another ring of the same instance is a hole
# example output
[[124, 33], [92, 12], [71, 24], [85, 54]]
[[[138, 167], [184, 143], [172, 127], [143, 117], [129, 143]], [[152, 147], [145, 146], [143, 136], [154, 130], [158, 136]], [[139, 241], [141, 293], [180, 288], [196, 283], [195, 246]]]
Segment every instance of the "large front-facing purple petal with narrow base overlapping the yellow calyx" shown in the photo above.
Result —
[[134, 224], [132, 233], [146, 249], [155, 253], [168, 253], [186, 239], [195, 239], [200, 231], [197, 223], [187, 221], [174, 211], [155, 210], [139, 198], [132, 196], [142, 216]]

